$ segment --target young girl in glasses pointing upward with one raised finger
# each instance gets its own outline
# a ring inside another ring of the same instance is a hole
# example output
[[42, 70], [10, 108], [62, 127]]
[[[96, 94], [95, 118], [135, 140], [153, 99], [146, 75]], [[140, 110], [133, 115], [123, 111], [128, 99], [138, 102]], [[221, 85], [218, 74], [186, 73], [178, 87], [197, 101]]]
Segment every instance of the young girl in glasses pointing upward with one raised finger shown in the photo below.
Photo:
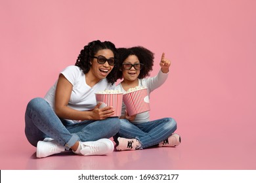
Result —
[[[169, 73], [171, 62], [165, 58], [163, 53], [160, 61], [160, 71], [154, 77], [146, 78], [152, 71], [154, 54], [142, 47], [119, 48], [119, 72], [117, 79], [123, 78], [116, 90], [126, 92], [129, 88], [136, 86], [147, 88], [149, 94], [160, 87]], [[181, 137], [174, 133], [177, 124], [173, 118], [162, 118], [150, 121], [149, 112], [142, 112], [129, 116], [122, 107], [121, 126], [119, 133], [114, 137], [117, 150], [137, 150], [150, 146], [178, 146]]]

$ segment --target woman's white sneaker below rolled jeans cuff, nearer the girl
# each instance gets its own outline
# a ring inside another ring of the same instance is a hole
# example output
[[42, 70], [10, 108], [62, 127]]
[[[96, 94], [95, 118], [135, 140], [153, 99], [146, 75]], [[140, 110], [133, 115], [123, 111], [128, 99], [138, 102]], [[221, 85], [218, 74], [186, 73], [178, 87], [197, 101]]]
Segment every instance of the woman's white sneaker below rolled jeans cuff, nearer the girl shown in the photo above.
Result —
[[114, 143], [110, 139], [99, 139], [98, 141], [81, 142], [80, 153], [83, 156], [110, 154], [114, 150]]

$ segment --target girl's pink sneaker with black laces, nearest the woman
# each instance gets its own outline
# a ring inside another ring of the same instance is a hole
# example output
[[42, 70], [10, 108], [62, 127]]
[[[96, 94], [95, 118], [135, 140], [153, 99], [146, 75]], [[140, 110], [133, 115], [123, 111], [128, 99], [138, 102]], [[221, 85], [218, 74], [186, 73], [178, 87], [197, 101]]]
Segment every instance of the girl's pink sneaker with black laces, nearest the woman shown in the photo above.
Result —
[[116, 150], [136, 150], [139, 146], [139, 141], [137, 139], [125, 139], [122, 137], [117, 138], [118, 145]]

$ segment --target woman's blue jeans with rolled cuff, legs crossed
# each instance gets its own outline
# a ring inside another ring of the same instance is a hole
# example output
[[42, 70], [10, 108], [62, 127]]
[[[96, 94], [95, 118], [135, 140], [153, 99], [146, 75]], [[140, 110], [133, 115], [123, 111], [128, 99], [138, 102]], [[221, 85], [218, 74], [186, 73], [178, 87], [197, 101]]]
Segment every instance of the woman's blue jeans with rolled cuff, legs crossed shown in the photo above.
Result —
[[73, 124], [56, 116], [53, 108], [42, 98], [32, 99], [25, 113], [25, 134], [33, 146], [45, 137], [55, 139], [68, 150], [77, 141], [97, 141], [113, 137], [119, 131], [119, 118], [87, 120]]

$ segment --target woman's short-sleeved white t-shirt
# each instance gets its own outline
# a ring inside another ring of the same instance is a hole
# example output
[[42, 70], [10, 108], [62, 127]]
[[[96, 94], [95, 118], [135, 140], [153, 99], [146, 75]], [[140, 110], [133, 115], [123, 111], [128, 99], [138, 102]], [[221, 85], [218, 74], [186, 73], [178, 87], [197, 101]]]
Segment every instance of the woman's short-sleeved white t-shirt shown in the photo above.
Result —
[[[92, 110], [96, 106], [95, 93], [106, 89], [113, 90], [115, 88], [115, 85], [108, 83], [106, 78], [100, 80], [93, 87], [88, 86], [85, 82], [85, 74], [75, 65], [66, 67], [61, 74], [73, 85], [68, 107], [74, 108], [75, 110]], [[51, 105], [53, 110], [57, 82], [55, 82], [45, 95], [45, 100]]]

